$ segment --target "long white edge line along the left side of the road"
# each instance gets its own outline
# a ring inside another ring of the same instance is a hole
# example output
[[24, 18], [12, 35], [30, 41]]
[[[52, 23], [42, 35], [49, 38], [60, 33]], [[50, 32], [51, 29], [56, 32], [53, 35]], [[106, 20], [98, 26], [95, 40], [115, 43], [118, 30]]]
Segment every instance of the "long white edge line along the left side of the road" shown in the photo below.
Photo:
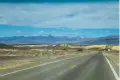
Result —
[[13, 72], [10, 72], [10, 73], [6, 73], [6, 74], [0, 75], [0, 76], [6, 76], [6, 75], [14, 74], [14, 73], [17, 73], [17, 72], [33, 69], [33, 68], [36, 68], [36, 67], [39, 67], [39, 66], [44, 66], [44, 65], [47, 65], [47, 64], [51, 64], [51, 63], [56, 63], [56, 62], [59, 62], [59, 61], [64, 61], [64, 60], [71, 59], [71, 58], [75, 58], [75, 57], [65, 58], [65, 59], [61, 59], [61, 60], [57, 60], [57, 61], [53, 61], [53, 62], [49, 62], [49, 63], [44, 63], [44, 64], [40, 64], [40, 65], [37, 65], [37, 66], [21, 69], [21, 70], [16, 70], [16, 71], [13, 71]]

